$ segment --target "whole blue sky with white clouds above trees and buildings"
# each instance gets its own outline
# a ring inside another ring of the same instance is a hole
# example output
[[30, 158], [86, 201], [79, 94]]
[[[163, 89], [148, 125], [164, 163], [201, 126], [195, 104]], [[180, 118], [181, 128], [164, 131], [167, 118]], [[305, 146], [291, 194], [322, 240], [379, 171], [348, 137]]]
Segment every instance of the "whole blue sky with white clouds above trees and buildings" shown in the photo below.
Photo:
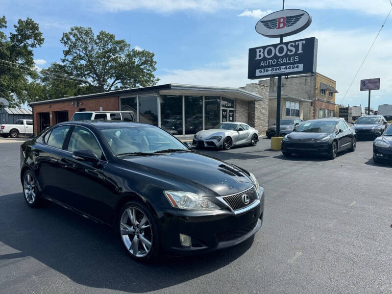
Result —
[[[255, 82], [246, 78], [247, 49], [277, 41], [257, 34], [254, 26], [281, 5], [281, 0], [0, 0], [0, 15], [8, 30], [20, 18], [40, 24], [45, 43], [34, 50], [40, 68], [60, 61], [62, 33], [82, 25], [155, 52], [159, 83], [241, 87]], [[286, 0], [285, 7], [312, 16], [309, 28], [285, 40], [319, 39], [317, 70], [337, 81], [339, 103], [391, 9], [390, 0]], [[359, 80], [374, 77], [381, 78], [381, 90], [372, 92], [371, 106], [392, 104], [391, 33], [392, 16], [343, 104], [367, 105]]]

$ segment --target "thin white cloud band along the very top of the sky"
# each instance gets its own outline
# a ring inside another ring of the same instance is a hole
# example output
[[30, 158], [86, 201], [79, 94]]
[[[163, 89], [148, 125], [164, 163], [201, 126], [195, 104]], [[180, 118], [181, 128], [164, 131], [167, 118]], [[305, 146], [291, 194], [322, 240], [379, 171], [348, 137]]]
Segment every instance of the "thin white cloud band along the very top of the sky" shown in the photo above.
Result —
[[[386, 15], [391, 9], [389, 0], [296, 0], [295, 7], [312, 9], [344, 9], [365, 14]], [[156, 13], [176, 11], [216, 12], [227, 9], [249, 9], [260, 7], [280, 9], [282, 0], [98, 0], [91, 2], [100, 11], [130, 11], [146, 9]], [[289, 3], [287, 3], [289, 4]], [[287, 5], [286, 5], [287, 6]], [[252, 10], [255, 9], [255, 10]]]

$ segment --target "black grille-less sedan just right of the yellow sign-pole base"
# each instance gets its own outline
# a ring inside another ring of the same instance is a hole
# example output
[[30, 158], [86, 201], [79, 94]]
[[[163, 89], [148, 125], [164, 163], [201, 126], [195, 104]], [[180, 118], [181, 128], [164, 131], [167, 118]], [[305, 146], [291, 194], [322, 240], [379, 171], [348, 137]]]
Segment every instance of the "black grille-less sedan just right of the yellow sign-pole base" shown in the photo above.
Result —
[[354, 151], [357, 146], [355, 131], [343, 119], [325, 118], [306, 121], [283, 138], [282, 153], [312, 153], [335, 159], [344, 149]]

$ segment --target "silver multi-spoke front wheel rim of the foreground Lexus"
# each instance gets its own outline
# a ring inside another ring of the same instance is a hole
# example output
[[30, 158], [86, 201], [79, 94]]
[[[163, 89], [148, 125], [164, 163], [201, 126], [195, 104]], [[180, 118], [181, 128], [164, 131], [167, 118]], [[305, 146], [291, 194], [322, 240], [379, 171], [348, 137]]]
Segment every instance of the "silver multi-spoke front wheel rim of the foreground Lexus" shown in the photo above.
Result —
[[127, 207], [120, 219], [120, 232], [128, 251], [136, 257], [145, 257], [152, 247], [151, 223], [137, 207]]

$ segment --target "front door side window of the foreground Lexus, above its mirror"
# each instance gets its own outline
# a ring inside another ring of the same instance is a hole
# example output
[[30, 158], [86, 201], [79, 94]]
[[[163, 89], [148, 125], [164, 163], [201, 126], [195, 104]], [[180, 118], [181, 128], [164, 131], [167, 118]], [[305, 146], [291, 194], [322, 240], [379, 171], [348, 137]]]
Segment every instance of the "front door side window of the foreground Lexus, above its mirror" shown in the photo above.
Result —
[[102, 157], [102, 150], [99, 147], [96, 137], [88, 129], [75, 126], [68, 144], [68, 151], [92, 150], [98, 158]]

